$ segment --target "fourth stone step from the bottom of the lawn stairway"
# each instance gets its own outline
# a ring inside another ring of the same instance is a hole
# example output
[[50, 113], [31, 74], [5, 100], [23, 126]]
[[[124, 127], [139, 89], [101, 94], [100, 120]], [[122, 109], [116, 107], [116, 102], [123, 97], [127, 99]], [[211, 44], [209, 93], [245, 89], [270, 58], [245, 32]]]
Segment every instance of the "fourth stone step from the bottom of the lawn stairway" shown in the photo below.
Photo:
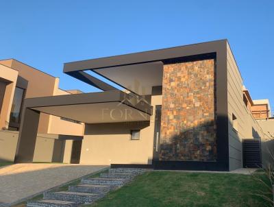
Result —
[[123, 186], [127, 179], [112, 179], [112, 178], [83, 178], [83, 184], [97, 184], [97, 185], [109, 185], [109, 186]]

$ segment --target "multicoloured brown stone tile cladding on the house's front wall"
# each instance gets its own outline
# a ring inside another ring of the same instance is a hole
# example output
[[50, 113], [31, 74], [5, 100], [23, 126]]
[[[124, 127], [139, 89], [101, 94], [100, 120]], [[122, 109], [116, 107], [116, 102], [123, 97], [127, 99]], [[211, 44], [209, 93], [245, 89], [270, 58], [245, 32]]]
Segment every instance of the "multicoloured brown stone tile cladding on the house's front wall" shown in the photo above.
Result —
[[214, 60], [164, 65], [160, 160], [216, 161]]

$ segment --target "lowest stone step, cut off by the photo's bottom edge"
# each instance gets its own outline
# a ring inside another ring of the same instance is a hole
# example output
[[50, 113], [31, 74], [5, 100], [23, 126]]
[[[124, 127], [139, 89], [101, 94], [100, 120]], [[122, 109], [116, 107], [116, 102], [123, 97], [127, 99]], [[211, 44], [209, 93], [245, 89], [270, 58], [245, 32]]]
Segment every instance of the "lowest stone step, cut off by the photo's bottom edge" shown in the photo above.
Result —
[[53, 199], [42, 199], [38, 201], [27, 202], [27, 207], [76, 207], [79, 204], [75, 202], [60, 201]]

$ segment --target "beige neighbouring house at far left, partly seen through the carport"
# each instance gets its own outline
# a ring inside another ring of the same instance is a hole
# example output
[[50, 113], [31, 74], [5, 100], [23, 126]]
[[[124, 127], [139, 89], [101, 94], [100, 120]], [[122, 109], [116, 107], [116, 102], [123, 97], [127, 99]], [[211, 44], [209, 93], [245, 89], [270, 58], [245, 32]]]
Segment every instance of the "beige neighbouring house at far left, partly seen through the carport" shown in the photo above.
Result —
[[[18, 139], [16, 131], [20, 129], [25, 98], [79, 93], [78, 90], [62, 90], [58, 88], [58, 85], [58, 77], [34, 69], [18, 60], [0, 60], [0, 160], [14, 160]], [[70, 145], [73, 145], [73, 139], [82, 139], [84, 124], [49, 114], [41, 114], [37, 132], [39, 135], [35, 143], [34, 161], [51, 162], [55, 160], [60, 162], [64, 161], [64, 153], [60, 158], [61, 154], [58, 151], [64, 151], [65, 142], [68, 144], [71, 140]], [[45, 146], [47, 149], [43, 149]], [[70, 158], [66, 162], [71, 162]]]

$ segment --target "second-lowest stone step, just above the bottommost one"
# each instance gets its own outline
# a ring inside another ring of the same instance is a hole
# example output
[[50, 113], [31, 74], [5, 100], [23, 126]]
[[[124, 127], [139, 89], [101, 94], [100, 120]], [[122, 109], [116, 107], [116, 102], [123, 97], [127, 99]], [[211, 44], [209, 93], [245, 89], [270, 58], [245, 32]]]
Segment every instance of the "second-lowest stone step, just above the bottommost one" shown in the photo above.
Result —
[[70, 191], [44, 193], [44, 199], [57, 199], [62, 201], [77, 202], [78, 204], [91, 204], [93, 201], [103, 196], [104, 194], [79, 193]]

